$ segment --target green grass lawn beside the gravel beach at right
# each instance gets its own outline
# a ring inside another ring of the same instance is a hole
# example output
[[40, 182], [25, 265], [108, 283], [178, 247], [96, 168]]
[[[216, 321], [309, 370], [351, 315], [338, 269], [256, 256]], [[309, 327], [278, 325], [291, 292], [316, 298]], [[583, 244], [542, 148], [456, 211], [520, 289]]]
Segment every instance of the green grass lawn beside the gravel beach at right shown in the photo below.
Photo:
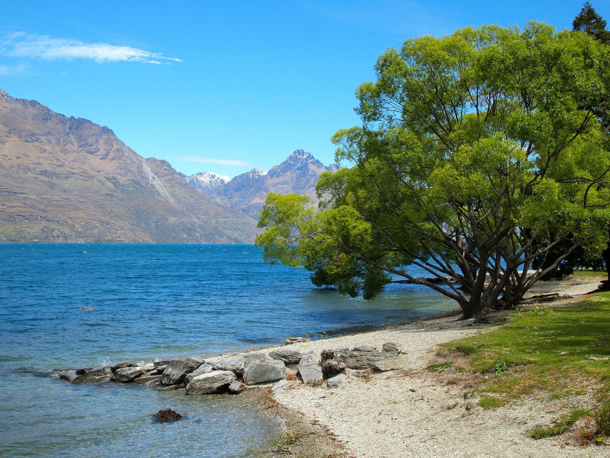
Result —
[[538, 308], [510, 318], [514, 321], [498, 329], [444, 345], [483, 374], [481, 407], [506, 405], [539, 389], [551, 398], [580, 394], [591, 383], [601, 383], [600, 394], [606, 394], [610, 293], [593, 294], [574, 307]]

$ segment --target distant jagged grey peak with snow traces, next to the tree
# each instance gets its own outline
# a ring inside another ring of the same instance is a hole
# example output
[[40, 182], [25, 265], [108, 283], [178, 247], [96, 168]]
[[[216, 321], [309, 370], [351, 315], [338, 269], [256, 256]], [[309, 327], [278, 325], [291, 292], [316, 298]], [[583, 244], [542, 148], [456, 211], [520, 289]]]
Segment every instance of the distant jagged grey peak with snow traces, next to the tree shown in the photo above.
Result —
[[321, 173], [336, 170], [336, 165], [324, 165], [311, 153], [296, 150], [284, 162], [272, 167], [269, 172], [261, 172], [259, 169], [249, 170], [213, 188], [208, 195], [223, 205], [258, 219], [267, 192], [280, 194], [295, 192], [309, 195], [317, 201], [315, 184]]

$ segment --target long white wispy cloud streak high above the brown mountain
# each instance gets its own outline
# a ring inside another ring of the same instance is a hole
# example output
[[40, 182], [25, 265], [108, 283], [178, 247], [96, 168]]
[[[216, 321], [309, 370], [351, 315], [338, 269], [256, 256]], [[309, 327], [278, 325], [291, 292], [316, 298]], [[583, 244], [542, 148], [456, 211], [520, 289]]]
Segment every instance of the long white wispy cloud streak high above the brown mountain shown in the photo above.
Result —
[[53, 38], [49, 35], [16, 32], [7, 35], [2, 42], [2, 53], [12, 57], [32, 57], [46, 60], [90, 59], [96, 62], [143, 62], [145, 64], [171, 64], [182, 62], [174, 57], [151, 53], [130, 46], [107, 43], [84, 43], [70, 38]]

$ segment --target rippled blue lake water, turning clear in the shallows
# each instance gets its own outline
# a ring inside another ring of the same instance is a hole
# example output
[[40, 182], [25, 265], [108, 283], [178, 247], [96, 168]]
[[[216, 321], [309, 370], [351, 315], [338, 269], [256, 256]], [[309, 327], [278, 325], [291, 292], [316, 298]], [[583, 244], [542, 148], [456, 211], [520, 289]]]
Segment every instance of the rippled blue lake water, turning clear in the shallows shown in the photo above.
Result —
[[[314, 288], [253, 245], [0, 244], [0, 456], [246, 456], [243, 440], [264, 448], [283, 430], [239, 396], [68, 385], [26, 370], [220, 354], [454, 308], [417, 285], [370, 301]], [[185, 418], [154, 423], [167, 407]]]

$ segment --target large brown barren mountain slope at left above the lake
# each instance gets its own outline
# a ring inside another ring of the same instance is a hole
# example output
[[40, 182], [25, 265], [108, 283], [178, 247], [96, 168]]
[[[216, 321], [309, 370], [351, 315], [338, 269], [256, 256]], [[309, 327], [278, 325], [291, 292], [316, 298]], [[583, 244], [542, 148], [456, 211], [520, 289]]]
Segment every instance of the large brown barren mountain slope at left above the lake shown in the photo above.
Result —
[[204, 197], [107, 127], [0, 90], [0, 242], [252, 242], [256, 222]]

